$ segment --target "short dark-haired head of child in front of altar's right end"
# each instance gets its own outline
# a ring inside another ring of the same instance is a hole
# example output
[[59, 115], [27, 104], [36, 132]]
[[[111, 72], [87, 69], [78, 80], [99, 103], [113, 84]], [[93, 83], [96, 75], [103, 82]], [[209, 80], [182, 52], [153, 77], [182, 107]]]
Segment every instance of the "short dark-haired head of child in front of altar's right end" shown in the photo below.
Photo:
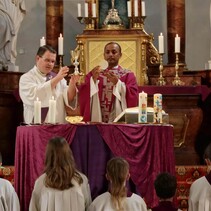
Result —
[[174, 175], [167, 172], [157, 175], [155, 182], [155, 191], [160, 199], [173, 198], [177, 188], [177, 180]]

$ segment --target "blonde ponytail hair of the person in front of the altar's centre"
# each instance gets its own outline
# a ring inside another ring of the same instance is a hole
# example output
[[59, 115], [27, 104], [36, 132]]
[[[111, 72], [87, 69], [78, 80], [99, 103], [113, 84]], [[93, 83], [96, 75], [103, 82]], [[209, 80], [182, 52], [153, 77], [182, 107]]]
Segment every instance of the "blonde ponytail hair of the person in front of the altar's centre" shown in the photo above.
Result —
[[127, 197], [125, 182], [129, 174], [129, 164], [121, 157], [114, 157], [108, 161], [107, 178], [110, 181], [111, 200], [115, 210], [124, 210], [124, 199]]

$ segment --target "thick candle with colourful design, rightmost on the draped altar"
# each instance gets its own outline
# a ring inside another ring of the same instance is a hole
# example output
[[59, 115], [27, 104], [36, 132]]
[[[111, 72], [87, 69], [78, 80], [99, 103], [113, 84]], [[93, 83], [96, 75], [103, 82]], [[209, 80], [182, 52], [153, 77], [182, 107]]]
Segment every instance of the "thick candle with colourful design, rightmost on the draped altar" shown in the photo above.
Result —
[[154, 123], [162, 123], [162, 94], [154, 94]]

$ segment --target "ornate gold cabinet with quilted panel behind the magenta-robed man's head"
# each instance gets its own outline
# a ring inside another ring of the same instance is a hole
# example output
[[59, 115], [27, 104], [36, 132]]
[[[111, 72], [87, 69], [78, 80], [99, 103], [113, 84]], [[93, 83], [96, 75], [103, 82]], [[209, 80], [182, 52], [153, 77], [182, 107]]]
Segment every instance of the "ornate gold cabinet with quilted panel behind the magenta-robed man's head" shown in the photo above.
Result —
[[146, 44], [149, 36], [140, 34], [121, 34], [118, 38], [114, 35], [78, 35], [77, 42], [80, 46], [80, 70], [87, 74], [99, 65], [103, 58], [106, 43], [116, 41], [122, 48], [120, 65], [130, 69], [136, 75], [139, 85], [146, 82]]

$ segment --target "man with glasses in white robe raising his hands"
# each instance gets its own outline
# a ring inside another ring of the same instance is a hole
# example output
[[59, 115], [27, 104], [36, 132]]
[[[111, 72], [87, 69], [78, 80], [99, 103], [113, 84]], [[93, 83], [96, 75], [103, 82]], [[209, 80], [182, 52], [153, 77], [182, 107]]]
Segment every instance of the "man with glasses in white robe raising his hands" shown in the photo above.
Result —
[[61, 67], [56, 74], [53, 68], [56, 51], [49, 45], [41, 46], [36, 55], [36, 65], [23, 74], [19, 82], [19, 94], [23, 101], [24, 121], [33, 123], [34, 101], [41, 101], [42, 122], [48, 121], [49, 100], [56, 100], [56, 123], [65, 123], [66, 106], [77, 107], [76, 83], [79, 76], [72, 75], [69, 85], [65, 77], [69, 73], [67, 66]]

